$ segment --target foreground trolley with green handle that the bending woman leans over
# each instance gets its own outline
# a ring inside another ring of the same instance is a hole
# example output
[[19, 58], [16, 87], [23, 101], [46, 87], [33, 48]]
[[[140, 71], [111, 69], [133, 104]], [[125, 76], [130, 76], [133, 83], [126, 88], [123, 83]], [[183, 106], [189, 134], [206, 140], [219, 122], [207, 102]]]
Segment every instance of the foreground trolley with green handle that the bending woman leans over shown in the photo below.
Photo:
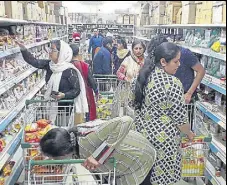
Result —
[[[113, 169], [104, 173], [81, 170], [83, 162], [84, 160], [81, 159], [30, 160], [28, 185], [115, 185], [116, 160], [114, 158], [107, 161], [113, 164]], [[97, 176], [99, 178], [96, 178]]]

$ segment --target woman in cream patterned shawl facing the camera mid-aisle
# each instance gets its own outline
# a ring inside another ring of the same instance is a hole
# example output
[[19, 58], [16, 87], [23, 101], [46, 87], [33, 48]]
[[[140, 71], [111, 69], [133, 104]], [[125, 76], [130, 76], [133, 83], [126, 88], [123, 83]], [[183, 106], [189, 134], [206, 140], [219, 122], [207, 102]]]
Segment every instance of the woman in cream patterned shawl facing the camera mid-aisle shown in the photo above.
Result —
[[136, 40], [132, 43], [131, 55], [124, 59], [117, 71], [118, 79], [132, 82], [144, 64], [145, 50], [146, 46], [143, 42]]

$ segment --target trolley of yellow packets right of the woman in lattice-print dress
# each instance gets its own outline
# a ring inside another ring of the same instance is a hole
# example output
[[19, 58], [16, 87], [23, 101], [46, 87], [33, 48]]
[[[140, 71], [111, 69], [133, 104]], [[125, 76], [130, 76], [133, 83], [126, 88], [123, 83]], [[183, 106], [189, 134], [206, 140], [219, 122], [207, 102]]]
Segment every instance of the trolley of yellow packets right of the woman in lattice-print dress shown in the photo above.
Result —
[[[182, 135], [182, 177], [205, 177], [206, 162], [209, 153], [209, 145], [212, 136], [206, 128], [203, 118], [197, 113], [196, 107], [192, 104], [186, 105], [191, 128], [195, 133], [193, 141]], [[192, 110], [192, 107], [194, 109]]]

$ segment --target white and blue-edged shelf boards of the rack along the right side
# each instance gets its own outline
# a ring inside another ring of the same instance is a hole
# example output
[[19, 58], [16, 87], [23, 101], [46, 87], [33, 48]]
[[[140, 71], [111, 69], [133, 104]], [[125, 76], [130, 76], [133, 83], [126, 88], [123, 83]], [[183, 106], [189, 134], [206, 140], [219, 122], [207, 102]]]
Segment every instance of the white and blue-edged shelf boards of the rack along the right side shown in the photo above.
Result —
[[[145, 43], [148, 43], [152, 37], [152, 34], [163, 33], [167, 35], [183, 34], [183, 29], [226, 29], [225, 24], [174, 24], [174, 25], [147, 25], [143, 28], [136, 28], [136, 33], [138, 30], [140, 34], [134, 36], [134, 39], [143, 40]], [[141, 34], [142, 33], [142, 34]], [[152, 33], [152, 34], [151, 34]], [[226, 62], [226, 54], [217, 53], [212, 51], [209, 48], [200, 48], [200, 47], [192, 47], [184, 44], [183, 42], [177, 43], [179, 46], [190, 49], [192, 52], [200, 55], [205, 55], [207, 57], [212, 57], [215, 59], [222, 60]], [[203, 78], [203, 85], [221, 93], [223, 96], [226, 96], [226, 80], [218, 79], [209, 74], [206, 74]], [[222, 129], [226, 130], [226, 112], [225, 114], [221, 110], [214, 110], [213, 104], [205, 101], [198, 101], [196, 103], [196, 108], [201, 111], [204, 115], [206, 115], [209, 119], [213, 121], [214, 124], [218, 124]], [[226, 146], [224, 145], [226, 142], [221, 142], [218, 137], [213, 136], [212, 142], [210, 144], [210, 150], [224, 163], [226, 164]], [[206, 166], [206, 179], [209, 180], [213, 185], [224, 185], [226, 181], [222, 177], [216, 177], [215, 175], [215, 167], [208, 161]]]

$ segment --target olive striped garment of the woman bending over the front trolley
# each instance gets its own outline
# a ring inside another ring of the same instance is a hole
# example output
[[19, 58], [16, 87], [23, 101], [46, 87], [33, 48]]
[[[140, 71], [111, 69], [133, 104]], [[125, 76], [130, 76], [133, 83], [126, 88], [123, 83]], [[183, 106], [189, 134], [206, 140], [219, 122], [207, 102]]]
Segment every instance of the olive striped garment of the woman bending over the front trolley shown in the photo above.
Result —
[[117, 185], [141, 184], [152, 168], [156, 152], [145, 137], [132, 130], [133, 126], [128, 116], [102, 123], [94, 132], [79, 138], [80, 157], [92, 155], [103, 164], [96, 172], [112, 170], [113, 164], [107, 160], [114, 157]]

